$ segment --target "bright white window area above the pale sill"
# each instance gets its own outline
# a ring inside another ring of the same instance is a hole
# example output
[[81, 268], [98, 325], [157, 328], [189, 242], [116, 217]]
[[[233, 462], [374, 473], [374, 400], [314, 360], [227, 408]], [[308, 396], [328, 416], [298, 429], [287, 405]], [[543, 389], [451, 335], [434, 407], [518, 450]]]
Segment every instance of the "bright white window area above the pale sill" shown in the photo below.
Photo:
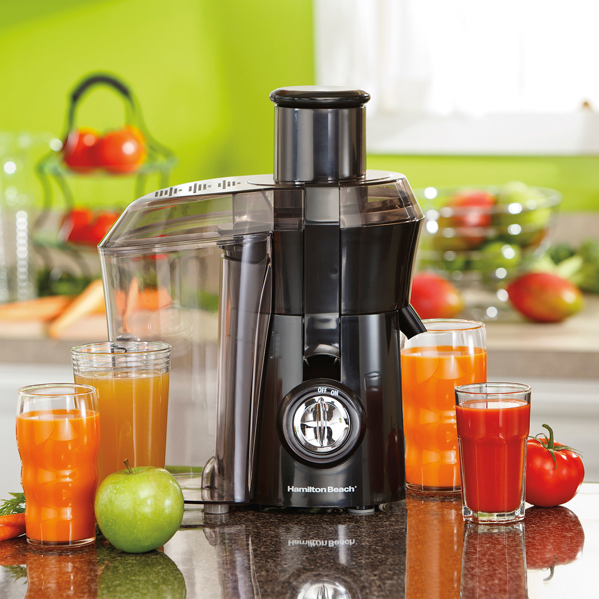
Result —
[[599, 110], [598, 0], [315, 0], [317, 83], [375, 113]]

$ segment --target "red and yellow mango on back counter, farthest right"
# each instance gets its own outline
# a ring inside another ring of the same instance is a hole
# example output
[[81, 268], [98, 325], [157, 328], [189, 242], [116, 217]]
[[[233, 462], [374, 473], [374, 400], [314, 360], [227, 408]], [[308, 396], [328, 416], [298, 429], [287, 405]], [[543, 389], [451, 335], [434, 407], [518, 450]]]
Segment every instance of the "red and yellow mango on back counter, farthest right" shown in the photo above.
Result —
[[580, 289], [556, 274], [523, 274], [507, 293], [516, 310], [537, 322], [560, 322], [582, 308]]

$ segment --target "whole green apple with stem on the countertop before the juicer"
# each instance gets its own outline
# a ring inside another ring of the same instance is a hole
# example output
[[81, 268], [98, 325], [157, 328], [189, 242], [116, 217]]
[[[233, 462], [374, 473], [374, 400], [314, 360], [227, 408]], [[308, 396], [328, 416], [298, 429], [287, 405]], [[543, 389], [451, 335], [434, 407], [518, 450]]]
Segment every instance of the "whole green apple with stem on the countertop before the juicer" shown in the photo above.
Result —
[[164, 468], [138, 466], [108, 474], [94, 509], [102, 534], [117, 549], [143, 553], [164, 545], [183, 520], [183, 492]]

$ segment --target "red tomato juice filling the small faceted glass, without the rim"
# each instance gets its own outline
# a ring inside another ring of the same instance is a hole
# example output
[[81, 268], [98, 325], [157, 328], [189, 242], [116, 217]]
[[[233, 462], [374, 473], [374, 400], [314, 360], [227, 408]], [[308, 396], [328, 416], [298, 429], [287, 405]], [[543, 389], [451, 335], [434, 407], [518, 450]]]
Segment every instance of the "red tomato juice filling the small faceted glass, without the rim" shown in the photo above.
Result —
[[456, 406], [456, 420], [465, 504], [473, 512], [518, 509], [530, 404], [465, 401]]

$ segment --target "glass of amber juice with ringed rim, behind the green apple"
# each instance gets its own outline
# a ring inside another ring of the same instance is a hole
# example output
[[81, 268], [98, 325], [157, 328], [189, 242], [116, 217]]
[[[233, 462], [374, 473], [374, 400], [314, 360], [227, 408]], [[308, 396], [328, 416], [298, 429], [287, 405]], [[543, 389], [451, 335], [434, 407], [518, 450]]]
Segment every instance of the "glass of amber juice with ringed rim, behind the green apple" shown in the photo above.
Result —
[[76, 383], [98, 392], [102, 438], [98, 480], [133, 466], [164, 468], [171, 346], [162, 341], [105, 341], [72, 347]]

